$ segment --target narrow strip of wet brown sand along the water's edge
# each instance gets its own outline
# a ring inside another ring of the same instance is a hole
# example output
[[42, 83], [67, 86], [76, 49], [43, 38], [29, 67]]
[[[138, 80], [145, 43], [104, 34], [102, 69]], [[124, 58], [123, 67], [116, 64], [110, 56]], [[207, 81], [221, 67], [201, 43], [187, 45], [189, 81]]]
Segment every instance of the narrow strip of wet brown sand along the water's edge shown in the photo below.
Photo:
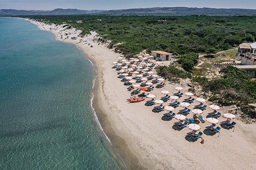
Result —
[[[24, 18], [19, 18], [19, 19], [24, 20]], [[25, 20], [28, 20], [28, 19], [25, 19]], [[50, 31], [50, 30], [45, 29], [44, 27], [43, 27], [44, 28], [43, 29], [41, 24], [36, 24], [33, 20], [28, 20], [28, 21], [32, 24], [35, 24], [41, 30]], [[50, 32], [55, 35], [55, 40], [61, 42], [61, 40], [58, 39], [58, 34], [55, 31], [50, 31]], [[88, 58], [87, 57], [85, 57], [85, 58], [88, 59], [91, 62], [91, 65], [93, 66], [93, 72], [95, 72], [95, 73], [93, 73], [94, 74], [94, 80], [93, 80], [94, 82], [93, 82], [93, 87], [92, 87], [92, 92], [91, 92], [91, 107], [92, 107], [93, 112], [95, 112], [96, 123], [97, 124], [99, 123], [98, 126], [99, 126], [100, 130], [104, 134], [106, 140], [108, 140], [110, 145], [113, 147], [113, 150], [115, 150], [116, 156], [118, 156], [119, 159], [122, 160], [123, 165], [128, 169], [137, 169], [137, 170], [146, 169], [145, 167], [143, 167], [142, 164], [140, 164], [137, 157], [131, 153], [125, 140], [122, 137], [116, 135], [115, 131], [111, 127], [111, 123], [108, 121], [107, 115], [99, 107], [98, 91], [100, 88], [100, 86], [99, 86], [100, 71], [98, 70], [97, 62], [93, 58], [91, 58], [89, 56], [89, 54], [86, 53], [87, 51], [85, 51], [83, 48], [81, 48], [81, 46], [79, 44], [77, 44], [75, 42], [66, 42], [66, 43], [71, 43], [71, 44], [75, 45], [76, 47], [78, 47], [81, 51], [83, 51], [83, 53], [86, 54], [88, 57]], [[122, 153], [122, 155], [120, 153]], [[127, 167], [127, 165], [129, 167]]]

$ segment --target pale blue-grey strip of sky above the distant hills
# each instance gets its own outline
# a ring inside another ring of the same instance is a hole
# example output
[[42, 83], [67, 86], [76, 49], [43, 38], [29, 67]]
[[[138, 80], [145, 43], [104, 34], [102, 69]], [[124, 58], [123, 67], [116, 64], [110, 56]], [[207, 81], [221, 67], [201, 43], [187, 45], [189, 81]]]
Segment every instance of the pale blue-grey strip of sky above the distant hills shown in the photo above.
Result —
[[256, 0], [0, 0], [0, 9], [17, 10], [53, 10], [55, 8], [111, 10], [152, 7], [256, 9]]

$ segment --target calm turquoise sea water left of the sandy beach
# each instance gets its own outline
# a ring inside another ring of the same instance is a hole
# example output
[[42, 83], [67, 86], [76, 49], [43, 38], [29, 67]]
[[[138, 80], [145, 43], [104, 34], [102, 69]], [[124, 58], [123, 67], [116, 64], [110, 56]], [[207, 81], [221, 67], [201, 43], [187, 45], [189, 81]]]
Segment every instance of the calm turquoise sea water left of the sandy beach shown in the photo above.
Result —
[[0, 169], [123, 169], [90, 106], [92, 65], [54, 37], [0, 17]]

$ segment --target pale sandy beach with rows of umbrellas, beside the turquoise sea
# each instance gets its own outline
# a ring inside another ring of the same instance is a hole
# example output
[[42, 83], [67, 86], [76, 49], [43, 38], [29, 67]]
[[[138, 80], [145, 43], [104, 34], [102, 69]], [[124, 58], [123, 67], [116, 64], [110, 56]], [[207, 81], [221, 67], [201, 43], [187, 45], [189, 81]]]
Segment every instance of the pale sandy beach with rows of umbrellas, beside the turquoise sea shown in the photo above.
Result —
[[[92, 43], [93, 47], [80, 43], [79, 30], [75, 28], [63, 30], [70, 32], [70, 37], [78, 37], [77, 40], [61, 39], [60, 30], [62, 26], [45, 25], [30, 21], [38, 25], [42, 30], [51, 31], [56, 36], [56, 40], [73, 43], [84, 50], [88, 56], [96, 63], [98, 70], [96, 97], [94, 106], [99, 122], [101, 123], [105, 133], [110, 138], [111, 143], [116, 147], [117, 152], [122, 155], [125, 163], [130, 169], [150, 169], [150, 170], [234, 170], [234, 169], [255, 169], [256, 167], [256, 125], [245, 124], [239, 120], [239, 113], [234, 121], [237, 123], [235, 128], [227, 130], [221, 128], [220, 133], [212, 135], [205, 127], [210, 123], [198, 122], [201, 126], [201, 132], [204, 132], [204, 144], [201, 144], [201, 138], [193, 140], [186, 136], [190, 132], [188, 127], [179, 129], [174, 125], [176, 119], [166, 120], [163, 118], [163, 113], [153, 112], [156, 105], [145, 105], [145, 101], [129, 103], [126, 99], [130, 98], [131, 92], [127, 91], [128, 86], [123, 85], [117, 74], [117, 71], [112, 68], [112, 62], [117, 61], [120, 54], [108, 49], [108, 44], [96, 42], [98, 37], [96, 32], [87, 35], [83, 38], [87, 43]], [[64, 38], [67, 36], [63, 36]], [[163, 62], [162, 62], [163, 63]], [[167, 64], [165, 62], [163, 64]], [[163, 65], [162, 64], [162, 65]], [[156, 71], [152, 70], [155, 74]], [[134, 77], [134, 75], [133, 75]], [[170, 94], [177, 91], [175, 87], [183, 87], [183, 93], [190, 88], [185, 80], [180, 84], [172, 84], [166, 82], [163, 88], [154, 88], [149, 94], [156, 95], [156, 99], [160, 99], [163, 94], [161, 91], [168, 90]], [[203, 97], [200, 92], [194, 93], [197, 97]], [[179, 102], [187, 96], [183, 95]], [[148, 100], [148, 99], [146, 99]], [[172, 101], [163, 103], [164, 106], [169, 105]], [[198, 102], [193, 102], [189, 108], [192, 110]], [[215, 103], [206, 102], [206, 105]], [[175, 108], [174, 113], [178, 113], [182, 107]], [[228, 113], [229, 107], [221, 108], [220, 112]], [[99, 113], [100, 112], [100, 113]], [[212, 112], [212, 109], [207, 107], [202, 114], [203, 117], [207, 113]], [[193, 114], [189, 113], [186, 117], [192, 118]], [[219, 117], [218, 120], [224, 121], [226, 118]], [[218, 125], [220, 126], [220, 125]], [[120, 147], [122, 146], [122, 147]]]

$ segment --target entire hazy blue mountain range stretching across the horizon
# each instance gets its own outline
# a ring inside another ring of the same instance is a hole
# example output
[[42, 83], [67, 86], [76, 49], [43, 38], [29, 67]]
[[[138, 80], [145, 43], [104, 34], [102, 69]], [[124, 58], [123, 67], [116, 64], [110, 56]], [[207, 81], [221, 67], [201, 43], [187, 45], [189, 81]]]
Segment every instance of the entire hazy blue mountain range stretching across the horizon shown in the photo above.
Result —
[[132, 8], [118, 10], [81, 10], [57, 8], [51, 11], [43, 10], [15, 10], [0, 9], [0, 16], [25, 16], [25, 15], [138, 15], [138, 16], [255, 16], [256, 9], [242, 8], [188, 8], [188, 7], [155, 7], [155, 8]]

